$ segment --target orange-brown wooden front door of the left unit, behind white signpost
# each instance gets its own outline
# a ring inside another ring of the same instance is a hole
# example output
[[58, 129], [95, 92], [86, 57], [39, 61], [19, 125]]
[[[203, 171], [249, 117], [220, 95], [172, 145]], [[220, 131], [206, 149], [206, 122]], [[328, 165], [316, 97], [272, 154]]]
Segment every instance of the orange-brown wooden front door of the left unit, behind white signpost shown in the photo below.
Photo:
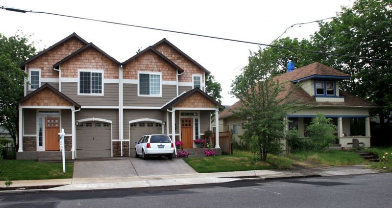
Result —
[[60, 118], [45, 118], [45, 150], [60, 150]]

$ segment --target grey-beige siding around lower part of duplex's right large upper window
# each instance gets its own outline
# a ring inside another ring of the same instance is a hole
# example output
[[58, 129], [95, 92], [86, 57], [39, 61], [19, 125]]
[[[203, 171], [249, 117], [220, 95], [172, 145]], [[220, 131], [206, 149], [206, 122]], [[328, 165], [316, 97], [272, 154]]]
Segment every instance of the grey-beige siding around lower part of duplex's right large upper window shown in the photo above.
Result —
[[123, 105], [124, 106], [155, 106], [160, 107], [176, 96], [175, 85], [162, 85], [162, 97], [138, 97], [137, 84], [123, 85]]

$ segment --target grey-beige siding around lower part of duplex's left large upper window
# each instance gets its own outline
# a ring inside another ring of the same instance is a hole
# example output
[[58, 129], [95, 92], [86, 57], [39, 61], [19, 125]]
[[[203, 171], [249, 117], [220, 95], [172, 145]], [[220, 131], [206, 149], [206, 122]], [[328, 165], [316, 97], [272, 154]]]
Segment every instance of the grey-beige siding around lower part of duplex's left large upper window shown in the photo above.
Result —
[[77, 95], [76, 82], [61, 82], [61, 92], [82, 106], [119, 106], [119, 84], [104, 83], [103, 96]]

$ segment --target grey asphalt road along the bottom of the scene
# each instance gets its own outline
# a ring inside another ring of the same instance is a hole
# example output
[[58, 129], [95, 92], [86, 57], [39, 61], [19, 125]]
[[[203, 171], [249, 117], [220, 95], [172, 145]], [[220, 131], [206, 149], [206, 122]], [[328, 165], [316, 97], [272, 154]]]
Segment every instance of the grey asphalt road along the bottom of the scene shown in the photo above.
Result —
[[121, 190], [1, 194], [1, 208], [391, 208], [392, 173]]

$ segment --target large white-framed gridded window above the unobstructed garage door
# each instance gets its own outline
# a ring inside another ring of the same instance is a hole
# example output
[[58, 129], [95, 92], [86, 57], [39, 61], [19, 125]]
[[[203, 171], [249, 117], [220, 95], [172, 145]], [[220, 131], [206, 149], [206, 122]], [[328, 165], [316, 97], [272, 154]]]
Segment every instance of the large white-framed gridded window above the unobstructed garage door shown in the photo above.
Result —
[[102, 77], [100, 71], [79, 71], [79, 94], [102, 95]]

